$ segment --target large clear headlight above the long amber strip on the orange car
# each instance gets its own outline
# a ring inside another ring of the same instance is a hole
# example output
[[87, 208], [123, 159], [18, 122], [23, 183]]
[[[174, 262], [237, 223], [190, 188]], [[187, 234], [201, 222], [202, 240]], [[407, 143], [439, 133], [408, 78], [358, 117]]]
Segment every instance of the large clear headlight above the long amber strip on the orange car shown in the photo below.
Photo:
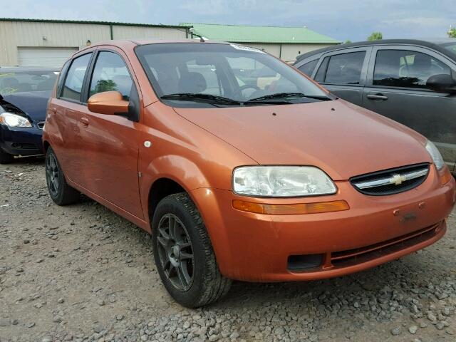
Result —
[[260, 197], [331, 195], [336, 185], [317, 167], [244, 166], [233, 172], [233, 191]]

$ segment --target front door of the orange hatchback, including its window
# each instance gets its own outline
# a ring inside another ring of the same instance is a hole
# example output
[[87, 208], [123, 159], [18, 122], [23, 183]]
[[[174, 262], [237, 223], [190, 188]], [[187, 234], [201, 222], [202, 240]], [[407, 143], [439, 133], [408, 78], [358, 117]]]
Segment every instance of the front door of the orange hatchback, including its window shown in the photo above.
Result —
[[[95, 93], [117, 90], [125, 100], [137, 94], [132, 74], [121, 51], [100, 49], [87, 83], [87, 98]], [[138, 125], [121, 115], [92, 113], [87, 106], [81, 115], [81, 143], [86, 170], [82, 184], [90, 192], [142, 218], [138, 178]]]

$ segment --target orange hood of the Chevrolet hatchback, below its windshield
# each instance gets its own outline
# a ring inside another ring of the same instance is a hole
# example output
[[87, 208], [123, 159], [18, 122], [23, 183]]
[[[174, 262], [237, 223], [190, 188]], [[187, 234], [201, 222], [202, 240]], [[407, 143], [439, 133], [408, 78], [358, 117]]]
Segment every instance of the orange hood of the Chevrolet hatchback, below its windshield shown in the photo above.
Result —
[[422, 135], [344, 100], [174, 109], [261, 165], [314, 165], [333, 180], [432, 161]]

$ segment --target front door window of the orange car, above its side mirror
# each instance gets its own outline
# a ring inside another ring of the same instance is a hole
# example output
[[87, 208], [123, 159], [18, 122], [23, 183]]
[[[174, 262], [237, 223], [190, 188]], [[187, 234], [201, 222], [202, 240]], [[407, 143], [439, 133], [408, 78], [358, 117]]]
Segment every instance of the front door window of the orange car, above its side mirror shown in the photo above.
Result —
[[117, 90], [123, 95], [124, 100], [130, 100], [133, 86], [130, 73], [123, 59], [109, 51], [98, 53], [90, 81], [90, 95], [103, 93], [103, 91]]

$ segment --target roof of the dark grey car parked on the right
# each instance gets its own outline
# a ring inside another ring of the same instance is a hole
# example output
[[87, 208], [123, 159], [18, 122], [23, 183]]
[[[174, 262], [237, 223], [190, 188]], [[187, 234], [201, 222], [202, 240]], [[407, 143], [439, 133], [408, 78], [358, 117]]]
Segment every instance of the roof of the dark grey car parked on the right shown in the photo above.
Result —
[[345, 48], [358, 48], [362, 46], [376, 46], [376, 45], [415, 45], [415, 46], [425, 46], [427, 48], [432, 48], [435, 51], [439, 51], [440, 53], [443, 53], [453, 60], [456, 61], [456, 54], [452, 53], [450, 50], [447, 48], [442, 47], [440, 44], [444, 43], [456, 43], [456, 39], [452, 38], [435, 38], [435, 39], [426, 39], [426, 40], [421, 40], [421, 39], [382, 39], [380, 41], [357, 41], [355, 43], [346, 43], [346, 44], [338, 44], [338, 45], [333, 45], [333, 46], [328, 46], [327, 48], [320, 48], [318, 50], [314, 51], [309, 51], [306, 53], [302, 53], [296, 58], [296, 63], [299, 61], [304, 60], [305, 58], [309, 58], [311, 56], [314, 56], [318, 53], [326, 53], [330, 51], [337, 51], [340, 49], [345, 49]]

